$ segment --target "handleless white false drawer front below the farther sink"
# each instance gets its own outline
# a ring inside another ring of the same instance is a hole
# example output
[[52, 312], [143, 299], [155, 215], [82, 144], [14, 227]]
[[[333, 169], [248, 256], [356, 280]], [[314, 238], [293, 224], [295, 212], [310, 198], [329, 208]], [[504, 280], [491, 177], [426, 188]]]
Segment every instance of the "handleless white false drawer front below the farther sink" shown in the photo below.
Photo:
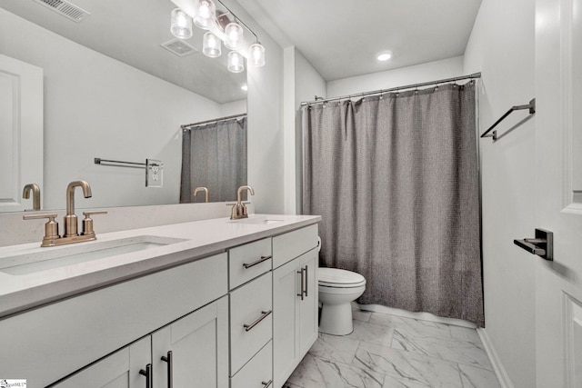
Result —
[[273, 237], [273, 268], [278, 268], [317, 246], [317, 225]]

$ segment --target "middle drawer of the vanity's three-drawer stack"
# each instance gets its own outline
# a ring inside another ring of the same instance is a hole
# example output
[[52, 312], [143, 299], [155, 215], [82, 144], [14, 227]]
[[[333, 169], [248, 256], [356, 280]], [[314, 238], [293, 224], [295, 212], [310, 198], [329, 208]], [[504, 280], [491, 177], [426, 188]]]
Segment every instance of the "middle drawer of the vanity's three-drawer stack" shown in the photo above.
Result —
[[270, 272], [230, 293], [231, 376], [271, 340], [272, 311], [273, 278]]

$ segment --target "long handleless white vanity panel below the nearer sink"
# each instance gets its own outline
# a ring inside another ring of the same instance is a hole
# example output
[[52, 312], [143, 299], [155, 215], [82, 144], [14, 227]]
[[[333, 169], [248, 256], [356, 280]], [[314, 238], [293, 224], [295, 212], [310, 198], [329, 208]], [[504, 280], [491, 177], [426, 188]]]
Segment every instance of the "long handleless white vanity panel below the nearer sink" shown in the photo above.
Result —
[[0, 343], [11, 350], [0, 353], [0, 374], [31, 388], [55, 383], [225, 296], [227, 264], [216, 254], [0, 320]]

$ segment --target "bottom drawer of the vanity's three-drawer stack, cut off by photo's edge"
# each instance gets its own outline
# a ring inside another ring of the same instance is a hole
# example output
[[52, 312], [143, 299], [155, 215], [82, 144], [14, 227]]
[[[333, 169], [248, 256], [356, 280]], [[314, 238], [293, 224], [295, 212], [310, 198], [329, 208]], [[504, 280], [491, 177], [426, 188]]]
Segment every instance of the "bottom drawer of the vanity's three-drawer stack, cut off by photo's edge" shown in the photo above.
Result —
[[230, 379], [230, 388], [273, 388], [273, 343], [267, 343], [234, 377]]

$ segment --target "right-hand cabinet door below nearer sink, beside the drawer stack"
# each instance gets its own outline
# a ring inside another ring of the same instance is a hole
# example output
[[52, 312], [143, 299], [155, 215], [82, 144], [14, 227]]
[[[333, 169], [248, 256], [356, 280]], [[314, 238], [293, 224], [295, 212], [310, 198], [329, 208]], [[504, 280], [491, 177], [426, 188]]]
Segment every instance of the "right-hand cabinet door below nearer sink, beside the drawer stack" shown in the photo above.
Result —
[[153, 333], [152, 358], [156, 388], [170, 388], [169, 374], [176, 388], [226, 388], [228, 297]]

